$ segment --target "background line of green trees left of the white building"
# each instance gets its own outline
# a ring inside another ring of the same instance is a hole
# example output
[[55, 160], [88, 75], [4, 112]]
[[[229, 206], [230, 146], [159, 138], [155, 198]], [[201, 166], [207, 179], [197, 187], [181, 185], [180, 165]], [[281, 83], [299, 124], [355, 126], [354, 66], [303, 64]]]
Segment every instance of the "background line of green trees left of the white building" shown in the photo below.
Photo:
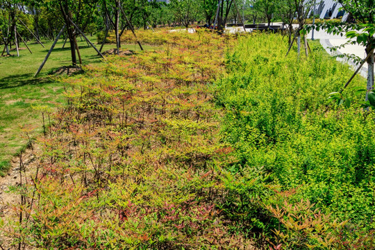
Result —
[[[121, 4], [129, 22], [136, 28], [157, 26], [189, 26], [192, 24], [225, 26], [247, 22], [271, 22], [285, 16], [283, 6], [288, 0], [0, 0], [1, 37], [17, 24], [19, 34], [26, 39], [33, 38], [24, 31], [21, 19], [39, 38], [53, 40], [65, 23], [65, 15], [72, 15], [78, 26], [86, 33], [106, 29], [108, 22], [115, 23], [116, 6]], [[237, 6], [237, 8], [235, 8]], [[218, 8], [219, 7], [219, 8]], [[69, 14], [70, 13], [70, 14]], [[218, 16], [216, 18], [216, 16]], [[9, 26], [9, 27], [8, 27]], [[127, 24], [119, 15], [119, 27]], [[14, 35], [11, 34], [10, 37]], [[1, 41], [3, 42], [3, 41]]]

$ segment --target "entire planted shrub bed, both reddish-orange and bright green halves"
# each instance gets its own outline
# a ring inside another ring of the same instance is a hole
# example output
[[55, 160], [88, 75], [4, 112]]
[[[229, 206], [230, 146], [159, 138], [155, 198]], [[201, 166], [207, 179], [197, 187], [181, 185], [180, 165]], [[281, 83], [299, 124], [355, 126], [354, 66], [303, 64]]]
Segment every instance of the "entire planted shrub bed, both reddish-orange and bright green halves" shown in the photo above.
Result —
[[285, 58], [281, 35], [163, 34], [64, 80], [2, 233], [38, 249], [371, 249], [373, 115], [327, 101], [349, 69], [315, 47]]

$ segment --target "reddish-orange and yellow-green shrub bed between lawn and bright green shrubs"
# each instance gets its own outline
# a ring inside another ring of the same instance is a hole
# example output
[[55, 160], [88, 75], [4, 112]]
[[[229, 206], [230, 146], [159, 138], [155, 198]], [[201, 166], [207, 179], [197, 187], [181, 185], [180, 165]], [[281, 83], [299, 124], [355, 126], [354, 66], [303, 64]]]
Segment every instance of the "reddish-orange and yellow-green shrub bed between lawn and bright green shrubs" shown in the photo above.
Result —
[[158, 51], [63, 79], [67, 105], [39, 139], [38, 169], [12, 188], [22, 197], [17, 217], [0, 220], [20, 248], [251, 248], [217, 207], [227, 195], [222, 167], [233, 159], [209, 85], [235, 38], [165, 39]]

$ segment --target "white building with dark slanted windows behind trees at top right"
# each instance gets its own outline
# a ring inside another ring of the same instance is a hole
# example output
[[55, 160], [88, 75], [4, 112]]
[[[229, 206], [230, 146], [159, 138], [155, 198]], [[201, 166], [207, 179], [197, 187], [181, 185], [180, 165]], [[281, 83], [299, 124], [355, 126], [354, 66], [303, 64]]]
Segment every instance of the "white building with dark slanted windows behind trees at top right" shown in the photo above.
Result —
[[[317, 0], [315, 15], [318, 15], [320, 19], [342, 18], [342, 21], [346, 21], [348, 15], [344, 10], [340, 10], [341, 7], [341, 3], [335, 0]], [[314, 10], [311, 10], [309, 16], [313, 17], [313, 13]]]

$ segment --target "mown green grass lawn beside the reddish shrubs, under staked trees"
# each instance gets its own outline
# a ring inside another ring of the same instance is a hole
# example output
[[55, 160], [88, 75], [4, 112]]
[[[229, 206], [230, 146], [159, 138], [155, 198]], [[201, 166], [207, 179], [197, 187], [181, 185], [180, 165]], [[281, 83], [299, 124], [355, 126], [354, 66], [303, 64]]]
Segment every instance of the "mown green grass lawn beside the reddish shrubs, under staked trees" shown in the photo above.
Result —
[[[92, 42], [95, 38], [90, 38]], [[78, 39], [83, 64], [97, 64], [102, 60], [92, 47], [85, 41]], [[41, 114], [33, 109], [38, 104], [53, 106], [53, 102], [63, 103], [63, 85], [57, 81], [51, 72], [59, 67], [71, 65], [70, 48], [67, 43], [65, 49], [63, 40], [57, 44], [42, 72], [37, 78], [33, 75], [42, 63], [51, 41], [44, 41], [43, 48], [40, 44], [28, 44], [33, 54], [28, 52], [24, 44], [17, 57], [16, 51], [11, 51], [12, 57], [0, 58], [0, 175], [6, 174], [12, 156], [17, 155], [27, 144], [22, 126], [35, 128], [32, 136], [41, 131]], [[96, 42], [94, 42], [96, 43]], [[98, 46], [99, 47], [99, 46]], [[114, 44], [106, 44], [103, 51], [113, 49]], [[98, 48], [99, 49], [99, 48]], [[139, 51], [138, 46], [126, 44], [122, 49]], [[153, 49], [144, 46], [144, 49]], [[1, 51], [3, 47], [1, 46]], [[1, 52], [0, 51], [0, 52]], [[78, 58], [77, 58], [78, 60]]]

